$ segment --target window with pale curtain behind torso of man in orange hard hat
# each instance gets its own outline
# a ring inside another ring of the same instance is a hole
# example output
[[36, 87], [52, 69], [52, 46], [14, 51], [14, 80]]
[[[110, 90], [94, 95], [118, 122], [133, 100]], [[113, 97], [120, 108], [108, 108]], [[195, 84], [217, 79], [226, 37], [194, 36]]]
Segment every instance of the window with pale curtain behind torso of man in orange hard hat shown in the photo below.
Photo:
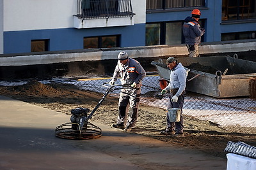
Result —
[[[183, 21], [175, 21], [146, 24], [146, 46], [185, 43], [182, 35], [183, 23]], [[204, 27], [204, 20], [199, 20], [199, 24]], [[204, 41], [204, 36], [202, 36], [201, 41]]]

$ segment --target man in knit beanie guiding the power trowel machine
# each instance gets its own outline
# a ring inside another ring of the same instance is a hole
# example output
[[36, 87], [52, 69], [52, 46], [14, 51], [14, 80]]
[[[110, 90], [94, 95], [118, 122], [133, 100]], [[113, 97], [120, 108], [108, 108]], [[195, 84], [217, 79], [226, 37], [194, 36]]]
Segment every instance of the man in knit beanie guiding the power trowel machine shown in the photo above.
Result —
[[[124, 51], [118, 54], [118, 62], [113, 73], [113, 78], [109, 85], [113, 85], [118, 76], [121, 77], [122, 85], [131, 85], [132, 88], [122, 89], [118, 102], [117, 123], [112, 127], [131, 131], [138, 117], [138, 107], [141, 96], [141, 81], [146, 76], [146, 72], [137, 60], [131, 59]], [[130, 106], [129, 117], [127, 117], [128, 104]], [[127, 117], [127, 118], [126, 118]], [[125, 125], [125, 118], [127, 119]]]

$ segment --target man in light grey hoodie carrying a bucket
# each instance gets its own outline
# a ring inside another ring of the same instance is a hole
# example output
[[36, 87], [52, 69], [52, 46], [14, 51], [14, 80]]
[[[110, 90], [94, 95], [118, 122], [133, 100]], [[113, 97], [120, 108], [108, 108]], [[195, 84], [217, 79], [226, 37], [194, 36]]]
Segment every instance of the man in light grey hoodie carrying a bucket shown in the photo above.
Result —
[[170, 74], [170, 83], [161, 91], [161, 94], [166, 94], [170, 92], [168, 97], [168, 106], [167, 110], [170, 108], [180, 108], [180, 122], [170, 122], [168, 113], [166, 112], [167, 127], [164, 131], [161, 131], [161, 134], [172, 135], [172, 136], [184, 136], [183, 134], [183, 117], [182, 117], [182, 108], [184, 104], [184, 95], [186, 88], [186, 79], [187, 73], [186, 69], [182, 66], [181, 63], [177, 62], [177, 59], [169, 57], [166, 60], [167, 67], [171, 71]]

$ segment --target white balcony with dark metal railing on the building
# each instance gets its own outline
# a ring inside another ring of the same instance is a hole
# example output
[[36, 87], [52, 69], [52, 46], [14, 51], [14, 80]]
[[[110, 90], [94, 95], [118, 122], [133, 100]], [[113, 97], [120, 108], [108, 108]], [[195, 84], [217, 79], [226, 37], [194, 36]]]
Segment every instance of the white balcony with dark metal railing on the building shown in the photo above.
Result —
[[134, 25], [131, 0], [77, 0], [77, 29]]

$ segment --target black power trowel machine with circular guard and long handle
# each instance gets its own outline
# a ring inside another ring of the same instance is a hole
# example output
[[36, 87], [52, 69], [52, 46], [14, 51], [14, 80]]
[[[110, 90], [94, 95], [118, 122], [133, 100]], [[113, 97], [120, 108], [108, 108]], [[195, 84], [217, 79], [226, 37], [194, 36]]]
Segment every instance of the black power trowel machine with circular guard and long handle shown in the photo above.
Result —
[[[109, 92], [131, 88], [131, 85], [109, 85], [108, 83], [104, 83], [103, 86], [107, 87], [106, 92], [104, 92], [104, 96], [100, 99], [92, 112], [90, 113], [88, 108], [72, 109], [70, 122], [56, 127], [55, 134], [57, 137], [65, 139], [95, 139], [102, 135], [102, 130], [88, 122], [88, 120], [92, 118], [93, 113], [99, 108]], [[119, 86], [120, 88], [115, 88], [115, 86]]]

